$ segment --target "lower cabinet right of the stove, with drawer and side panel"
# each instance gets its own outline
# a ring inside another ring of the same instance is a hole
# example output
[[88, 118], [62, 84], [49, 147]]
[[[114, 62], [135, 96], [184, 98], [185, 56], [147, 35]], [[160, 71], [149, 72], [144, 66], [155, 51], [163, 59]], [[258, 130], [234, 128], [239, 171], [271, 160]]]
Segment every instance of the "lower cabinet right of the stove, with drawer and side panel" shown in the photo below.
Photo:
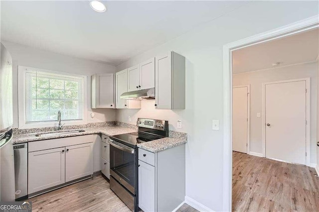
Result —
[[185, 201], [185, 144], [160, 152], [139, 148], [139, 208], [171, 212]]

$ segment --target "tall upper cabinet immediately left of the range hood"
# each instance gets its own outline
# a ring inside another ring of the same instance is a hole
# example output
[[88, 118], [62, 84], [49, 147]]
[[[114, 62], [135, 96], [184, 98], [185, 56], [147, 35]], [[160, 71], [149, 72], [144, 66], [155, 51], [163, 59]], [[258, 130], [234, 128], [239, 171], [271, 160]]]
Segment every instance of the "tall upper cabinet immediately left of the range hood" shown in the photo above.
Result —
[[[128, 92], [128, 69], [124, 69], [115, 74], [116, 84], [116, 108], [140, 109], [141, 101], [139, 100], [122, 100], [121, 95]], [[137, 90], [137, 89], [136, 89]]]

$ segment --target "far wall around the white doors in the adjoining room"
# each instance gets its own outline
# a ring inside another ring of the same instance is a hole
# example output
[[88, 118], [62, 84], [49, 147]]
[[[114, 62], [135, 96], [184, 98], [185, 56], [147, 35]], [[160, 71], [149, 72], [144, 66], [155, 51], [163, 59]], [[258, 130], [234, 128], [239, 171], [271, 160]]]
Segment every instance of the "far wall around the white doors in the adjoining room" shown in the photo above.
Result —
[[[318, 62], [233, 75], [233, 86], [250, 84], [250, 151], [263, 153], [262, 85], [263, 83], [310, 77], [310, 160], [316, 162]], [[313, 117], [313, 118], [312, 118]]]

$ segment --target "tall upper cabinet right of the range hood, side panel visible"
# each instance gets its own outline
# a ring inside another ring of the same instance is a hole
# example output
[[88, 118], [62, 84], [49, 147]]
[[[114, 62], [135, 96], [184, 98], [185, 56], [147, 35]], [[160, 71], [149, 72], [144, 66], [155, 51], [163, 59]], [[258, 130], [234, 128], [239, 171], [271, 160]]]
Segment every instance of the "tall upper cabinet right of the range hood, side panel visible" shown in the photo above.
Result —
[[155, 106], [185, 109], [185, 57], [170, 51], [155, 58]]

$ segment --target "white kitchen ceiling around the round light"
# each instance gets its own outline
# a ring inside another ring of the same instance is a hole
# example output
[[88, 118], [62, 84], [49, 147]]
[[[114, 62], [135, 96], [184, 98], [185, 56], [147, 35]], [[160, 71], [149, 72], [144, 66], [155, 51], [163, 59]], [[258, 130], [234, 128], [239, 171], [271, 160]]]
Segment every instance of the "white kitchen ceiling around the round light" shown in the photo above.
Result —
[[1, 39], [118, 65], [247, 1], [1, 1]]

